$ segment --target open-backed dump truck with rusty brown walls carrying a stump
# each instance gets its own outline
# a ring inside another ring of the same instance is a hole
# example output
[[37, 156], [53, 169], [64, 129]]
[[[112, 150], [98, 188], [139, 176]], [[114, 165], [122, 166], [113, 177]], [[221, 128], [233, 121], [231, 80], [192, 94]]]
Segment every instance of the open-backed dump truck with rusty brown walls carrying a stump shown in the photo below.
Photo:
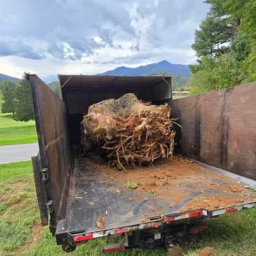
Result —
[[[40, 148], [32, 163], [41, 223], [65, 252], [110, 236], [126, 242], [103, 252], [169, 248], [205, 230], [206, 219], [256, 206], [255, 83], [173, 100], [170, 76], [58, 75], [60, 96], [37, 75], [26, 77]], [[173, 160], [124, 173], [83, 154], [89, 106], [125, 93], [170, 106], [179, 124]]]

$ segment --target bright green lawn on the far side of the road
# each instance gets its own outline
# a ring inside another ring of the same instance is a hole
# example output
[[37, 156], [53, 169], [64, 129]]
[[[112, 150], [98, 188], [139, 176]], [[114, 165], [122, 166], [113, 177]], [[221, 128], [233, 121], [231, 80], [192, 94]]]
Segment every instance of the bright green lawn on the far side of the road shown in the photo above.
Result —
[[0, 113], [0, 146], [37, 142], [35, 121], [17, 122]]

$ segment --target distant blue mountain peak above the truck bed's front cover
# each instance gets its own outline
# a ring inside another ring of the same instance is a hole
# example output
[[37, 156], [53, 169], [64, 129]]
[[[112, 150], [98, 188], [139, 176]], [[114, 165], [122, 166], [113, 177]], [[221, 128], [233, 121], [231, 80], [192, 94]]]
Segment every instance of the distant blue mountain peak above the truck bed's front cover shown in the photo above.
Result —
[[172, 64], [168, 61], [148, 64], [139, 67], [117, 67], [98, 75], [150, 75], [157, 73], [168, 73], [173, 75], [184, 75], [190, 77], [189, 67], [182, 64]]

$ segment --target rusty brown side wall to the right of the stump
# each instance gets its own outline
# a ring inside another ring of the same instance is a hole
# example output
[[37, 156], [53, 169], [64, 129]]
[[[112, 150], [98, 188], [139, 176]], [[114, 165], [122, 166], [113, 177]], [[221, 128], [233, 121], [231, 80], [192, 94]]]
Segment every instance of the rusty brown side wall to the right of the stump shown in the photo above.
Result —
[[171, 101], [184, 156], [256, 179], [256, 82]]

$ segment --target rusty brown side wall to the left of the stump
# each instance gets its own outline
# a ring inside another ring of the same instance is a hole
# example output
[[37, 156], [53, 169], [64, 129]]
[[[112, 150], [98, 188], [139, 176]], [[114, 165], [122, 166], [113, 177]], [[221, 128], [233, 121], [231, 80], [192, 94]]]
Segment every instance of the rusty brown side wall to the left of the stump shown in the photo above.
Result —
[[[64, 101], [59, 98], [37, 75], [27, 74], [32, 88], [36, 131], [40, 148], [41, 168], [49, 169], [45, 181], [48, 202], [53, 200], [51, 226], [58, 217], [64, 218], [72, 172], [72, 151], [67, 127], [67, 113]], [[61, 207], [62, 205], [62, 207]]]

